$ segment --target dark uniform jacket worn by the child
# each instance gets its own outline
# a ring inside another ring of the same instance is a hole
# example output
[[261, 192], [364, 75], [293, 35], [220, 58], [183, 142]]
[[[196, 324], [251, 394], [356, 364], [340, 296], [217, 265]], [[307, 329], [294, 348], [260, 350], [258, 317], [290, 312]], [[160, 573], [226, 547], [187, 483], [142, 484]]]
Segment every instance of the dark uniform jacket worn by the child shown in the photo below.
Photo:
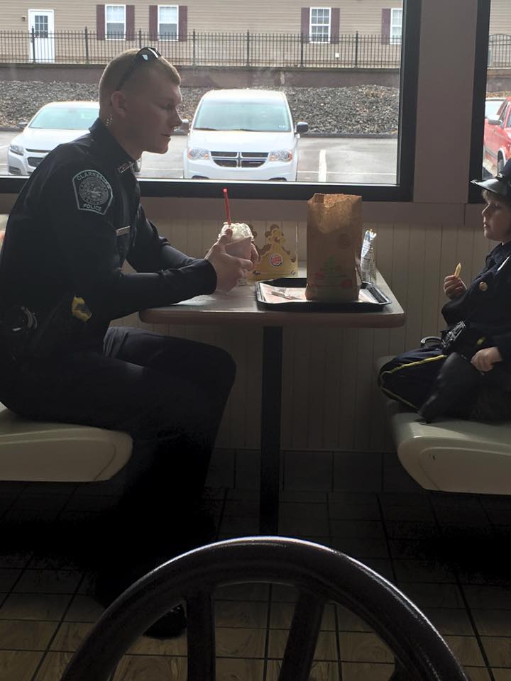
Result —
[[483, 272], [444, 305], [442, 314], [449, 326], [465, 321], [473, 341], [484, 336], [482, 347], [495, 345], [502, 360], [511, 363], [511, 242], [491, 251]]

